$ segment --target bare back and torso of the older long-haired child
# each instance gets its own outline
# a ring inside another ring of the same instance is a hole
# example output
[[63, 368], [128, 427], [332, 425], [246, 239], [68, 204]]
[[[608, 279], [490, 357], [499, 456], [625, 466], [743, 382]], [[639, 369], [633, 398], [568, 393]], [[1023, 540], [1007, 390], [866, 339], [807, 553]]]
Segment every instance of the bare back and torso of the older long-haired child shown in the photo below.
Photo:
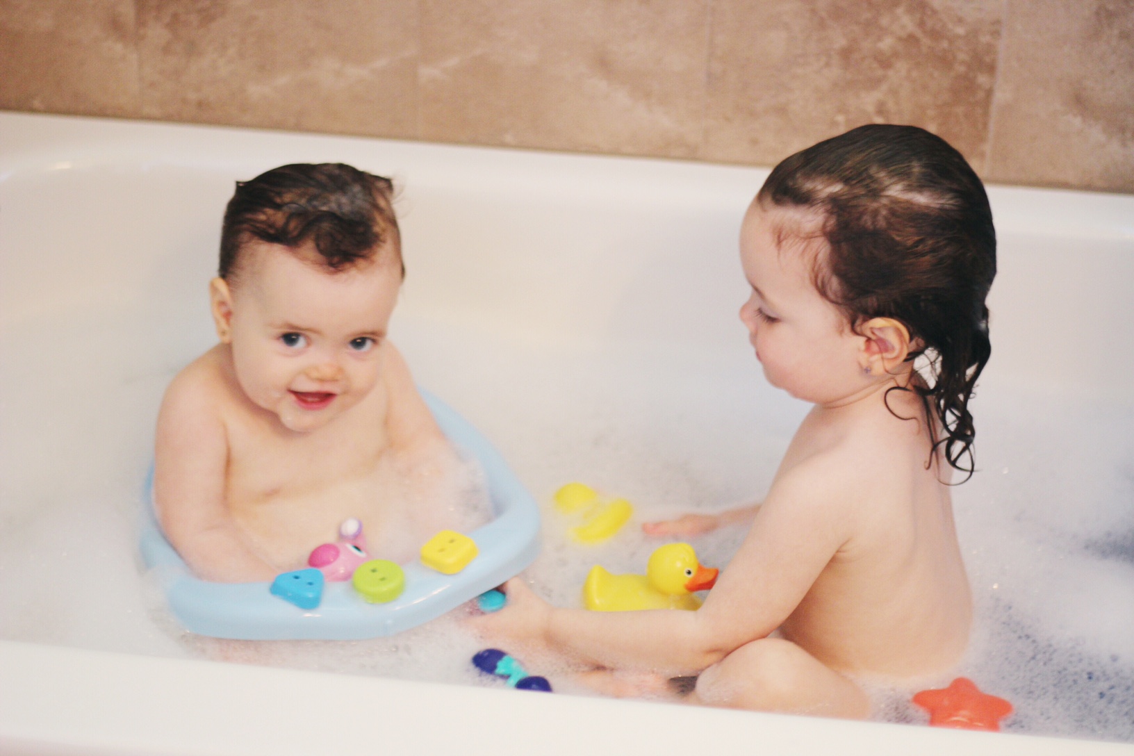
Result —
[[921, 402], [906, 392], [888, 401], [892, 414], [882, 402], [816, 408], [784, 459], [777, 477], [799, 465], [841, 489], [828, 509], [848, 537], [780, 630], [831, 669], [911, 677], [958, 661], [972, 609]]

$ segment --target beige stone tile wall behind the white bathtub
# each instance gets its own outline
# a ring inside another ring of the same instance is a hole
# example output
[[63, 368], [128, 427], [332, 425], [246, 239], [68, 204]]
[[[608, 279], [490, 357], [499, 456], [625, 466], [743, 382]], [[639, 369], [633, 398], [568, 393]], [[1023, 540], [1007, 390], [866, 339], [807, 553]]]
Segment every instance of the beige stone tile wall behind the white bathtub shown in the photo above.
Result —
[[0, 0], [0, 108], [1134, 192], [1134, 0]]

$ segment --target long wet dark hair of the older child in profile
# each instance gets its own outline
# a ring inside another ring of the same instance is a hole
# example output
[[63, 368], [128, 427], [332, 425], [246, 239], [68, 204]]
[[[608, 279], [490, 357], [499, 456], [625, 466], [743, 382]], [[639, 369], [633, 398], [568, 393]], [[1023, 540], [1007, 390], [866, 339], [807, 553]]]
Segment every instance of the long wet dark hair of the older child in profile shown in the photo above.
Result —
[[933, 451], [943, 445], [949, 465], [972, 476], [968, 400], [992, 350], [984, 298], [996, 275], [992, 211], [973, 169], [924, 129], [875, 124], [792, 155], [756, 198], [821, 214], [829, 253], [816, 260], [815, 288], [852, 328], [892, 317], [921, 341], [909, 359], [925, 356], [924, 385], [912, 390]]

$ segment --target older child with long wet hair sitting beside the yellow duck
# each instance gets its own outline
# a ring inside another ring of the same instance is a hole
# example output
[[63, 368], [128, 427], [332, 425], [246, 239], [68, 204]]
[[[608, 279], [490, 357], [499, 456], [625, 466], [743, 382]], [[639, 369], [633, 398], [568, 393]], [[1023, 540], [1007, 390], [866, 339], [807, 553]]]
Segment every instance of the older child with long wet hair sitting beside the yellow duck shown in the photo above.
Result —
[[954, 468], [973, 472], [992, 214], [942, 139], [864, 126], [772, 171], [745, 215], [741, 260], [756, 359], [814, 407], [762, 503], [646, 526], [693, 535], [751, 519], [704, 604], [558, 609], [513, 579], [508, 606], [474, 622], [618, 695], [696, 676], [693, 703], [862, 717], [864, 677], [939, 673], [967, 644], [949, 483]]

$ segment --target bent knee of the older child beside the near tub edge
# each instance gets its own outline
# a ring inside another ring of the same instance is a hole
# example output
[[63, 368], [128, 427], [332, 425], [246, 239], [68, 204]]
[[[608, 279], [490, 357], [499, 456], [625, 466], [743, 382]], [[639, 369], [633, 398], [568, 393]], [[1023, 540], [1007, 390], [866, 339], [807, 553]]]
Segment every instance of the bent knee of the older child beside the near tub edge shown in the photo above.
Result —
[[701, 673], [689, 703], [761, 712], [865, 719], [858, 686], [790, 640], [762, 638]]

